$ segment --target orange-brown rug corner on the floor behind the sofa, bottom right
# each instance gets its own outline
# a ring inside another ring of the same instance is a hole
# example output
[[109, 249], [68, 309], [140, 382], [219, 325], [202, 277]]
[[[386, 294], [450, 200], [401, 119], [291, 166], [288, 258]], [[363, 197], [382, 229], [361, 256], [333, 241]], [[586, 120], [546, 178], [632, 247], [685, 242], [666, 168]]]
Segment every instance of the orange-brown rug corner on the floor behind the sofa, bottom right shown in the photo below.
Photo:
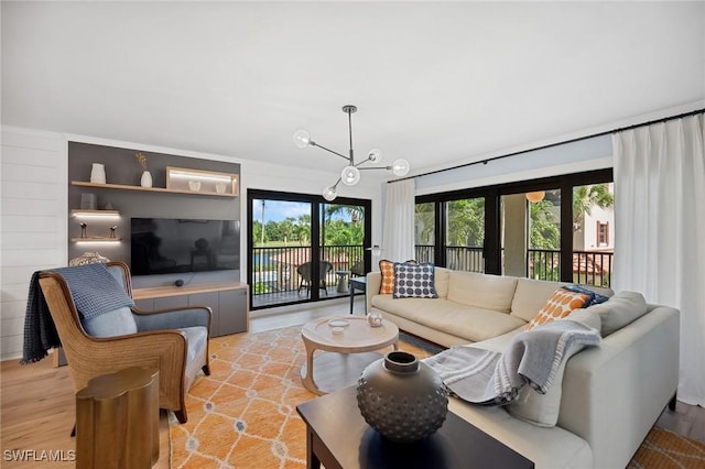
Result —
[[702, 469], [705, 468], [705, 443], [653, 427], [627, 468]]

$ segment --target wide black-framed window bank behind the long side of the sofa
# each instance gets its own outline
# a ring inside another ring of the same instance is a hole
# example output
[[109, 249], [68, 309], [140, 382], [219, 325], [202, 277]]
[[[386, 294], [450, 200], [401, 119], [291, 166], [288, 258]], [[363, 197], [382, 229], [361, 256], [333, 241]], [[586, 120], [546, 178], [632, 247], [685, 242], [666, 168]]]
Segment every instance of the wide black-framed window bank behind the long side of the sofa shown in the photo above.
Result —
[[431, 262], [455, 270], [609, 286], [611, 181], [612, 170], [598, 170], [416, 197], [416, 255], [430, 251]]

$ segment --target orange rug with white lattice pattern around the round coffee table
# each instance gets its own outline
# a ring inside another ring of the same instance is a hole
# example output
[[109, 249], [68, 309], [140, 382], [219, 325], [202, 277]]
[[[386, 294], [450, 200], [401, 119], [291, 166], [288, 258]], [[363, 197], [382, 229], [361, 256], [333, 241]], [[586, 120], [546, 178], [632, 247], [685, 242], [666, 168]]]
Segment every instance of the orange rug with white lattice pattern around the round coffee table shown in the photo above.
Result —
[[[405, 337], [401, 350], [419, 358], [434, 351]], [[301, 326], [215, 338], [210, 356], [210, 377], [198, 378], [186, 397], [188, 422], [170, 413], [171, 467], [305, 468], [306, 425], [296, 405], [316, 395], [301, 384]]]

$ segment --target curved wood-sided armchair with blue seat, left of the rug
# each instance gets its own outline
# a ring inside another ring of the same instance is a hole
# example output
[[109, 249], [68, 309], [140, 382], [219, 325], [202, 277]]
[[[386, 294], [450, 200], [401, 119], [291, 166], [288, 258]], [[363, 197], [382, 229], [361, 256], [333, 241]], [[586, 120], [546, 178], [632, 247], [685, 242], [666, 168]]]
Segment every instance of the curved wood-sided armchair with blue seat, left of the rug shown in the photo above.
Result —
[[[130, 271], [121, 262], [109, 262], [108, 271], [132, 296]], [[135, 334], [93, 337], [82, 325], [68, 285], [57, 273], [40, 273], [40, 286], [70, 368], [76, 391], [91, 378], [115, 373], [128, 367], [159, 369], [159, 403], [173, 411], [181, 423], [187, 421], [185, 394], [200, 370], [210, 374], [208, 330], [210, 308], [207, 306], [143, 312], [132, 307]], [[197, 330], [205, 343], [189, 337]], [[199, 329], [199, 330], [198, 330]], [[198, 343], [197, 343], [198, 342]], [[189, 347], [195, 349], [191, 350]], [[188, 357], [193, 356], [192, 359]]]

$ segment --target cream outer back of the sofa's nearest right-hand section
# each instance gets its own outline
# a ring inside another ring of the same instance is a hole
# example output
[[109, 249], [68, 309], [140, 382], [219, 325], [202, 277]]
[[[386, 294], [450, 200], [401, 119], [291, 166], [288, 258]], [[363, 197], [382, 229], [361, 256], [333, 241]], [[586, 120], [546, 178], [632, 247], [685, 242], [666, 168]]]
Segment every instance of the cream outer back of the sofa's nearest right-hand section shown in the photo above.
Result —
[[593, 448], [595, 467], [626, 467], [679, 384], [679, 310], [649, 313], [567, 362], [558, 426]]

